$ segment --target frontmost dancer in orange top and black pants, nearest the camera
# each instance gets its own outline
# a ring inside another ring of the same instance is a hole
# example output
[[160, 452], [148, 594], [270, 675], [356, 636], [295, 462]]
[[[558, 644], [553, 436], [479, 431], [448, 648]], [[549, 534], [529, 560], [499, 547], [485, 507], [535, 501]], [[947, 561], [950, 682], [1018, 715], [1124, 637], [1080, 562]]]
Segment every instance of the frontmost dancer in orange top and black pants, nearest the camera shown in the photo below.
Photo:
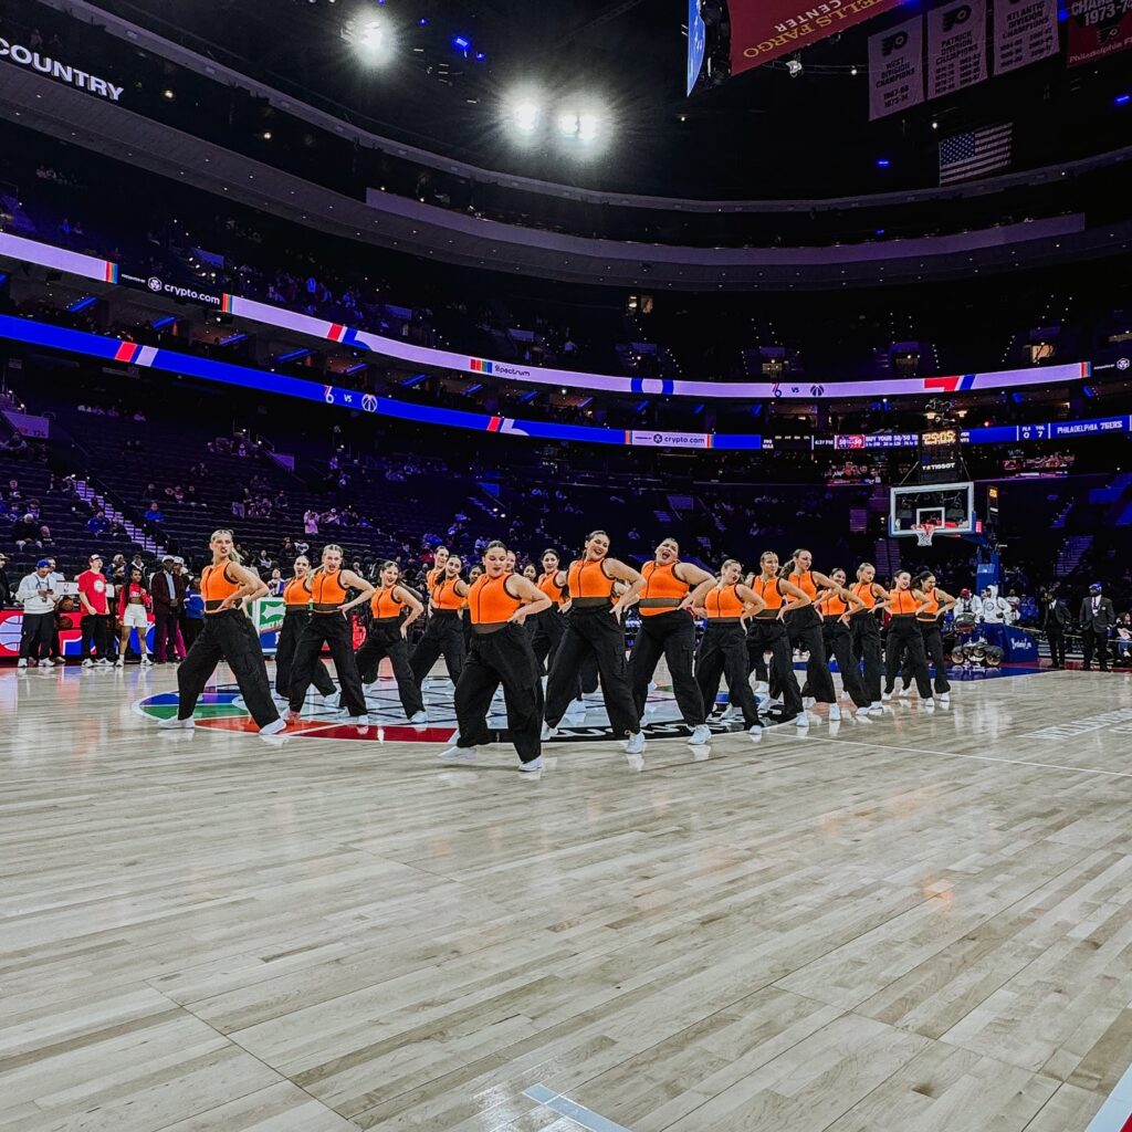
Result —
[[491, 743], [488, 712], [503, 685], [507, 730], [518, 752], [520, 770], [542, 770], [542, 678], [524, 621], [550, 608], [550, 598], [533, 582], [507, 569], [507, 548], [489, 542], [483, 551], [483, 574], [471, 585], [468, 610], [472, 648], [456, 685], [456, 745], [440, 757], [446, 762], [475, 758], [475, 747]]

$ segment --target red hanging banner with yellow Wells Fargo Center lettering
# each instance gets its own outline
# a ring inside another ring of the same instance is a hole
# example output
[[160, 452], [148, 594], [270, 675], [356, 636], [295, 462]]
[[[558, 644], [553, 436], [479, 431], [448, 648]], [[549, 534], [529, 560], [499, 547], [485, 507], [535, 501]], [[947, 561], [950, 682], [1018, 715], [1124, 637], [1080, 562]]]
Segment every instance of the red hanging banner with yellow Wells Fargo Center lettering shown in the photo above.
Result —
[[731, 74], [800, 51], [873, 16], [900, 0], [731, 0]]

